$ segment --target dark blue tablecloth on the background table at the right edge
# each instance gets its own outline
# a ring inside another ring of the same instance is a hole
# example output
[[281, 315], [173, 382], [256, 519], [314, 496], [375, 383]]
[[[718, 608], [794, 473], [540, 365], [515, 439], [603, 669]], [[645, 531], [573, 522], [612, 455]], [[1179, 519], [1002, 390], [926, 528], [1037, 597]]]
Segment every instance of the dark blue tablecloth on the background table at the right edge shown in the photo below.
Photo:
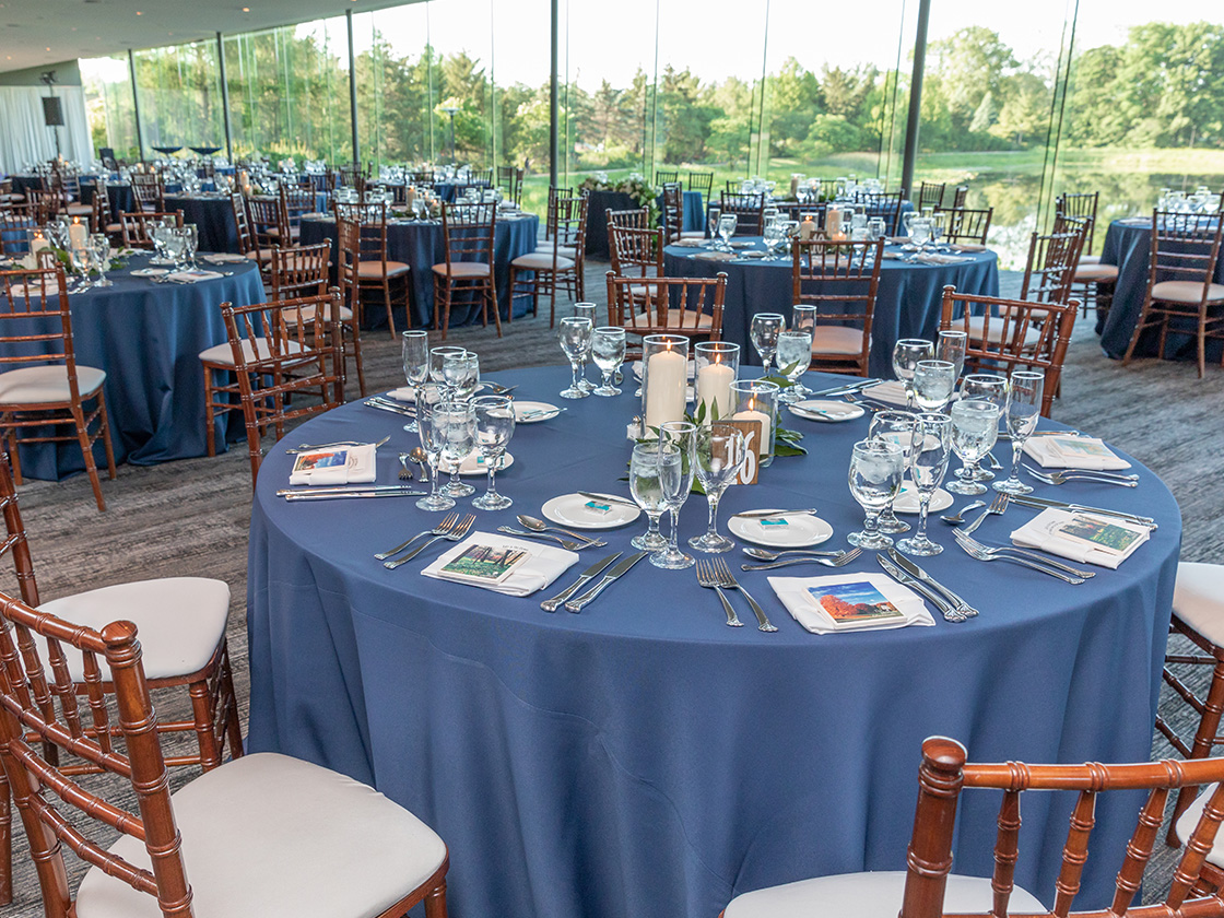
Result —
[[[1118, 283], [1114, 285], [1114, 304], [1104, 319], [1098, 321], [1097, 333], [1105, 355], [1120, 360], [1130, 346], [1135, 326], [1143, 311], [1143, 297], [1147, 295], [1148, 267], [1152, 263], [1152, 220], [1133, 217], [1110, 223], [1102, 245], [1100, 261], [1103, 264], [1118, 266]], [[1215, 266], [1215, 283], [1224, 284], [1224, 258]], [[1135, 349], [1136, 356], [1155, 356], [1159, 334], [1155, 328], [1144, 332]], [[1219, 339], [1208, 338], [1207, 361], [1218, 364], [1222, 354], [1224, 344]], [[1193, 328], [1186, 334], [1170, 333], [1164, 356], [1197, 360]]]

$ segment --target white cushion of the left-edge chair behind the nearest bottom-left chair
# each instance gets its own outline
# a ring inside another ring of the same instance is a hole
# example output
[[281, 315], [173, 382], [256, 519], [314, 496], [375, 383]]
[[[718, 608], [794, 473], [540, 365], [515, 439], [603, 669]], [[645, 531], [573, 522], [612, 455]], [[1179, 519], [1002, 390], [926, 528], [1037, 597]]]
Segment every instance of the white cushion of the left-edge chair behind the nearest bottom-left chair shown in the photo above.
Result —
[[[225, 636], [229, 599], [224, 580], [169, 577], [78, 592], [44, 602], [39, 610], [94, 630], [111, 622], [133, 622], [144, 674], [164, 679], [190, 676], [208, 666]], [[81, 655], [66, 656], [72, 678], [83, 681]]]

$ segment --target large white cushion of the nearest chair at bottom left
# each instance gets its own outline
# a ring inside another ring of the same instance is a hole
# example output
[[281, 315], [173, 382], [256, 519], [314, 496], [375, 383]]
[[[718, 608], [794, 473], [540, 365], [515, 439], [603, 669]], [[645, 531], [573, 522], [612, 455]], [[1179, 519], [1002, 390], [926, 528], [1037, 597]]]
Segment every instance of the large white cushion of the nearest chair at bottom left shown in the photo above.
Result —
[[[447, 857], [425, 823], [372, 787], [275, 753], [244, 755], [174, 794], [197, 918], [370, 918]], [[132, 837], [111, 851], [149, 867]], [[162, 918], [157, 900], [92, 868], [77, 918]]]

